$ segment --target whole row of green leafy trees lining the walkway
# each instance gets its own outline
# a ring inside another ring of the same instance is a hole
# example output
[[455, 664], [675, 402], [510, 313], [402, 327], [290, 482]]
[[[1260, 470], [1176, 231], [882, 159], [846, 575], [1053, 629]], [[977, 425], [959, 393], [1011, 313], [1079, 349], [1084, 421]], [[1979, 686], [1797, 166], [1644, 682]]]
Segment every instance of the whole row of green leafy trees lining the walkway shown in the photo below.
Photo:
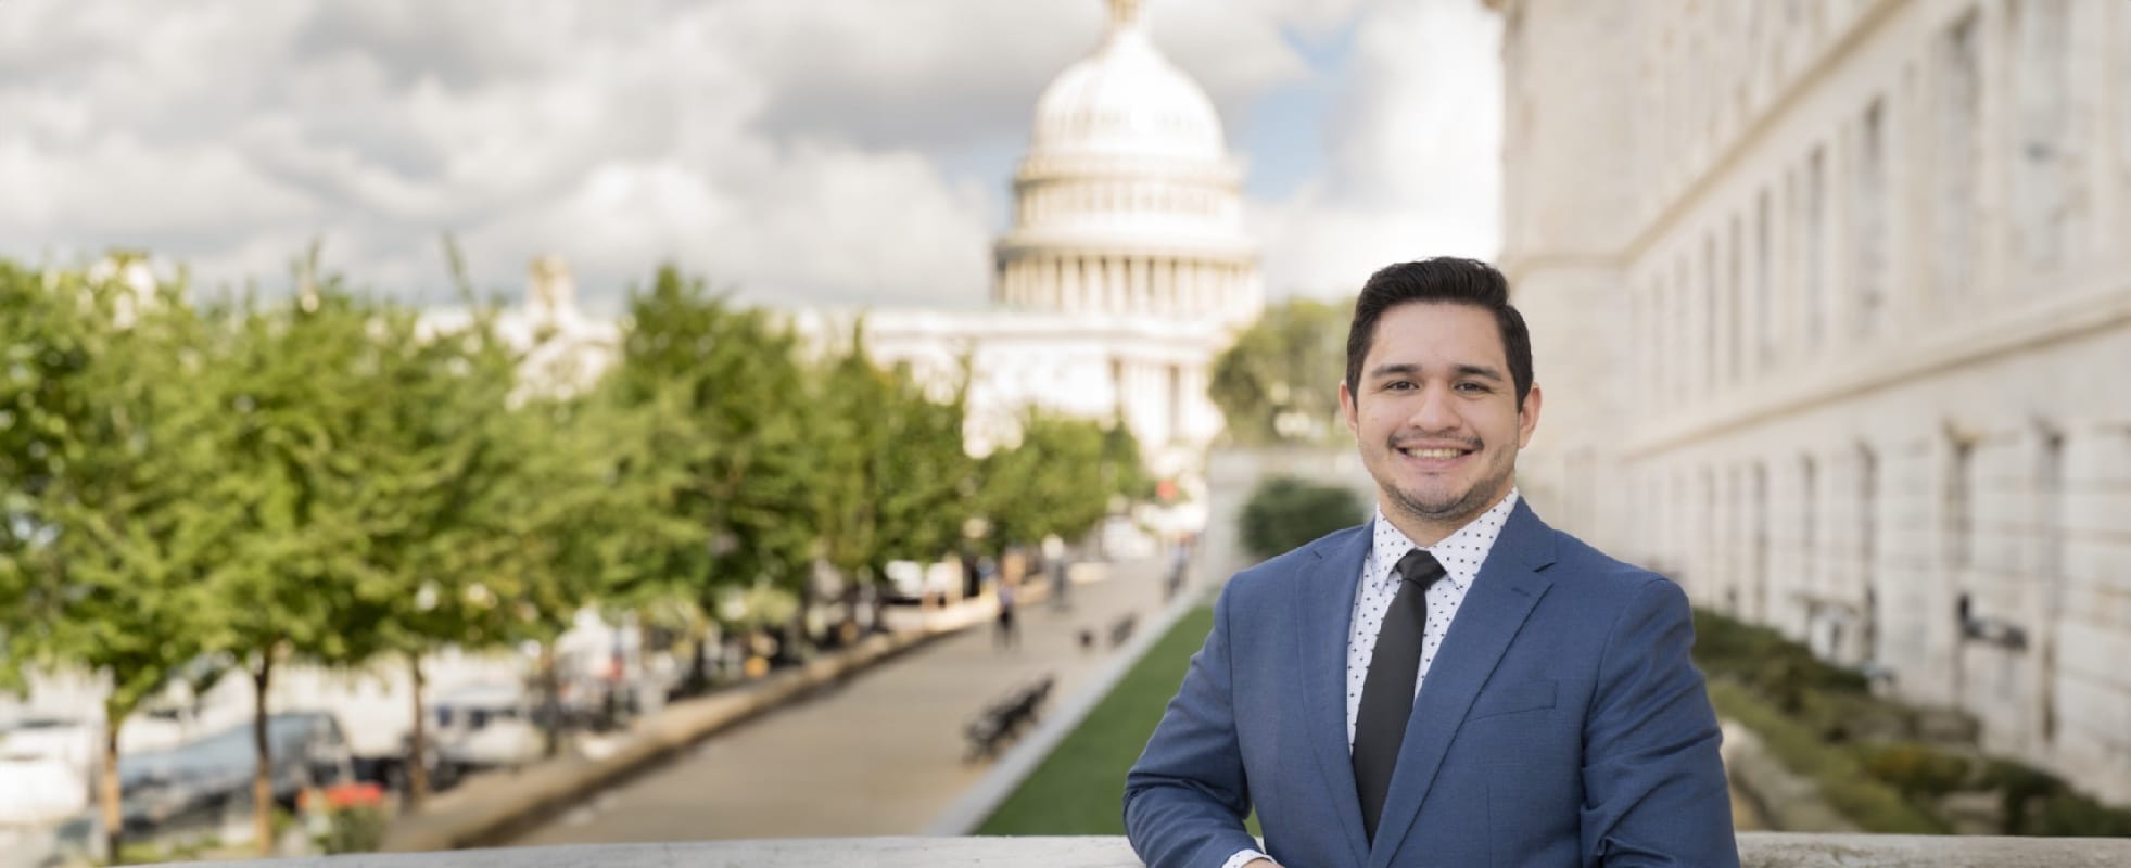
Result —
[[701, 649], [761, 617], [735, 602], [806, 602], [818, 564], [857, 587], [1078, 536], [1144, 489], [1121, 425], [1031, 411], [970, 457], [965, 389], [874, 364], [863, 332], [812, 351], [673, 268], [633, 291], [612, 370], [558, 387], [471, 294], [439, 330], [330, 279], [190, 304], [117, 264], [0, 262], [0, 687], [109, 679], [113, 857], [117, 732], [170, 685], [254, 683], [264, 847], [279, 666], [407, 666], [420, 798], [430, 651], [552, 649], [584, 606], [667, 613]]

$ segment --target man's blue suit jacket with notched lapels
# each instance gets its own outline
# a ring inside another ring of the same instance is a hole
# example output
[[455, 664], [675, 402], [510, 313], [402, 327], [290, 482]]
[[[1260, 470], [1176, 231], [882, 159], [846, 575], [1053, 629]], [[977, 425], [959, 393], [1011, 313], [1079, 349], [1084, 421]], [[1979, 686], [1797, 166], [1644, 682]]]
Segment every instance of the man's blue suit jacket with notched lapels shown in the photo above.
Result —
[[1739, 864], [1679, 585], [1519, 500], [1428, 679], [1370, 847], [1347, 747], [1347, 632], [1370, 528], [1236, 574], [1125, 779], [1155, 868], [1257, 847], [1289, 868]]

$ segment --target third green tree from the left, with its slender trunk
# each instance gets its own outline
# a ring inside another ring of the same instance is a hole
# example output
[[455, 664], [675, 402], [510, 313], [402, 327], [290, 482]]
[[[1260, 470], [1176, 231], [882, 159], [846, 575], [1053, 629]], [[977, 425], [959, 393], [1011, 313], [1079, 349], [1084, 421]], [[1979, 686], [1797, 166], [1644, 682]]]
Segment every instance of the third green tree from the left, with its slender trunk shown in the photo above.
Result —
[[[537, 619], [520, 523], [541, 498], [526, 477], [554, 449], [511, 411], [520, 353], [473, 306], [465, 326], [422, 334], [413, 311], [369, 311], [373, 364], [347, 383], [367, 396], [347, 415], [343, 453], [360, 468], [354, 519], [364, 530], [364, 587], [339, 615], [343, 634], [405, 662], [413, 683], [409, 800], [428, 781], [422, 660], [441, 647], [497, 647]], [[569, 594], [575, 598], [575, 594]], [[531, 611], [528, 611], [531, 608]]]

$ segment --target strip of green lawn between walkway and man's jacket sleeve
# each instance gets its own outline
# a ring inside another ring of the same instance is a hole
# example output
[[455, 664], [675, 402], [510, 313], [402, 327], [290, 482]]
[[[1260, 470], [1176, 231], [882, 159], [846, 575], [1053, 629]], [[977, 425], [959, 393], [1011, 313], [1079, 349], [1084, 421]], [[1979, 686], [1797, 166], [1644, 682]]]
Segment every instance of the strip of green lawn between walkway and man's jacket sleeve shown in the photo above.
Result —
[[1125, 770], [1208, 630], [1210, 606], [1185, 613], [976, 834], [1125, 834]]

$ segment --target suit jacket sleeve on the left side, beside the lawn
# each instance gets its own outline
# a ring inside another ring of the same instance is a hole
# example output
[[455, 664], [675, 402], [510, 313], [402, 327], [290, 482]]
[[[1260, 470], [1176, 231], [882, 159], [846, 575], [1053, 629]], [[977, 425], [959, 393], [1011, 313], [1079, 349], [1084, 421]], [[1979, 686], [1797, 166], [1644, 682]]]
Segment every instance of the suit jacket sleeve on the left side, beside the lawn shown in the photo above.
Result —
[[1151, 868], [1217, 868], [1257, 849], [1242, 828], [1251, 796], [1230, 702], [1232, 589], [1215, 602], [1206, 645], [1125, 774], [1125, 836]]

